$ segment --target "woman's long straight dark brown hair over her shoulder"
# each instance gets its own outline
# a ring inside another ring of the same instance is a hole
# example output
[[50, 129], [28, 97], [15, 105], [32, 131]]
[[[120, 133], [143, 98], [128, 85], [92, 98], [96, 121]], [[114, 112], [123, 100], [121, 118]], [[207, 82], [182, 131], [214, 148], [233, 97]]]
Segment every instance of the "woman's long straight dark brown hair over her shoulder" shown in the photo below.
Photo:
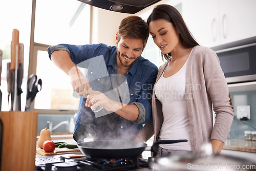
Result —
[[[165, 4], [156, 6], [147, 18], [147, 25], [149, 26], [150, 22], [157, 19], [165, 19], [167, 22], [173, 23], [179, 32], [180, 42], [185, 48], [193, 48], [199, 45], [188, 30], [179, 11], [173, 6]], [[162, 54], [162, 58], [164, 57], [166, 60], [171, 59], [171, 56], [170, 53]]]

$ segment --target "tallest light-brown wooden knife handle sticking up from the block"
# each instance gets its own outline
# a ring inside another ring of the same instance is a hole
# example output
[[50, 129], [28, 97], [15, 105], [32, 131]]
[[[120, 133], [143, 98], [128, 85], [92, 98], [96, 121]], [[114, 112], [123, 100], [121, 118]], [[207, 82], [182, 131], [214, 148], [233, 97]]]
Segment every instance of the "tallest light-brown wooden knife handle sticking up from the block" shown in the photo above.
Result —
[[[19, 52], [19, 40], [18, 40], [18, 38], [19, 38], [19, 31], [17, 29], [13, 29], [13, 31], [12, 31], [12, 42], [11, 42], [11, 66], [10, 66], [10, 70], [15, 70], [16, 54], [19, 54], [18, 53]], [[18, 46], [18, 48], [17, 48], [17, 46]]]

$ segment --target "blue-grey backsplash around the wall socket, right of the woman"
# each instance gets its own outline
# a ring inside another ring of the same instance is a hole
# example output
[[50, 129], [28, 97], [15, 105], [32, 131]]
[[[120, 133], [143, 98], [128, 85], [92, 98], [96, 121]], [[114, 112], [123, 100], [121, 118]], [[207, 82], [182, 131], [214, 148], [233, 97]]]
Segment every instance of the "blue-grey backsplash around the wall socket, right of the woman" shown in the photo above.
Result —
[[[234, 106], [234, 119], [228, 138], [244, 139], [244, 131], [256, 131], [256, 90], [247, 92], [231, 92]], [[240, 121], [237, 119], [237, 105], [250, 105], [250, 119]], [[251, 126], [253, 127], [251, 127]]]

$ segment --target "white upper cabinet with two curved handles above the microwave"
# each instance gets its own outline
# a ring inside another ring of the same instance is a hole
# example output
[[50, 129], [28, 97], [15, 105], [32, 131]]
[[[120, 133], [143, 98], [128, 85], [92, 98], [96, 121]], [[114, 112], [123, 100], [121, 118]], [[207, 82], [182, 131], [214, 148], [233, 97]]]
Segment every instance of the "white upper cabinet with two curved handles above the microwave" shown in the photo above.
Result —
[[256, 1], [183, 2], [183, 18], [199, 44], [214, 47], [256, 36]]

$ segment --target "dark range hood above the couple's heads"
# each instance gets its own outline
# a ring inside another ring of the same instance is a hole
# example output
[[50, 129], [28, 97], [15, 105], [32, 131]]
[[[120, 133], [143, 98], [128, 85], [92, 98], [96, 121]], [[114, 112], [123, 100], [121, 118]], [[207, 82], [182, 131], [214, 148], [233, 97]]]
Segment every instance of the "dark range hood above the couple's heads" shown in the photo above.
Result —
[[78, 0], [105, 10], [135, 14], [161, 0]]

